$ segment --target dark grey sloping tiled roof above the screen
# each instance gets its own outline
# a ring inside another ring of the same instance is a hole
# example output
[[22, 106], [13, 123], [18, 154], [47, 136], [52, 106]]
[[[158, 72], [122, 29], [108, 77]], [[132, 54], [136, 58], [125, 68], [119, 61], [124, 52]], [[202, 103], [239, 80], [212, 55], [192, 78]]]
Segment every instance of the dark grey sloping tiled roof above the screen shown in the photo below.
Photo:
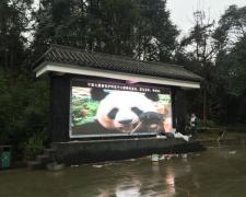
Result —
[[51, 45], [51, 47], [35, 62], [35, 66], [38, 66], [44, 61], [66, 63], [68, 67], [71, 65], [157, 78], [197, 82], [202, 80], [199, 76], [186, 70], [183, 66], [136, 60], [125, 56], [92, 53], [59, 45]]

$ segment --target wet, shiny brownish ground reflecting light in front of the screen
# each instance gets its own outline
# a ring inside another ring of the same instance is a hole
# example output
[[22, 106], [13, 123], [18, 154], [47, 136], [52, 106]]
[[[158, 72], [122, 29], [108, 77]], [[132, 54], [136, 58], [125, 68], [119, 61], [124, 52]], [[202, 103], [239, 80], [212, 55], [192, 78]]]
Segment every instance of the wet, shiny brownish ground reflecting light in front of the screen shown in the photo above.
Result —
[[1, 197], [246, 196], [246, 147], [216, 147], [190, 154], [161, 155], [71, 166], [60, 172], [0, 172]]

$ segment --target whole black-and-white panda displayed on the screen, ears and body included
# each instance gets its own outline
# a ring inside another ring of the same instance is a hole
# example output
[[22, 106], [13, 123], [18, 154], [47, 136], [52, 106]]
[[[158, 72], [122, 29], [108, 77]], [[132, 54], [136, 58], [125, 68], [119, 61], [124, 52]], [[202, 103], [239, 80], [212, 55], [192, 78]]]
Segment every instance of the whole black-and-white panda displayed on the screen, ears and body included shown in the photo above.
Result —
[[[92, 89], [91, 97], [99, 102], [93, 123], [80, 126], [80, 134], [132, 134], [160, 131], [163, 115], [156, 112], [156, 93]], [[75, 128], [74, 130], [78, 130]]]

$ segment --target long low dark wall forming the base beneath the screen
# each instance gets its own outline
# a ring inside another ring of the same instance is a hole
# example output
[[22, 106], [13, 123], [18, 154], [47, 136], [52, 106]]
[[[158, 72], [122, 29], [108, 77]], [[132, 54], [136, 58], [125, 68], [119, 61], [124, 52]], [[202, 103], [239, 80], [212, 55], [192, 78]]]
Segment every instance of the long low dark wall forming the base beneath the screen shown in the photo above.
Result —
[[52, 143], [52, 148], [56, 150], [56, 160], [67, 165], [141, 158], [153, 153], [185, 153], [204, 150], [199, 142], [186, 142], [175, 138], [71, 141]]

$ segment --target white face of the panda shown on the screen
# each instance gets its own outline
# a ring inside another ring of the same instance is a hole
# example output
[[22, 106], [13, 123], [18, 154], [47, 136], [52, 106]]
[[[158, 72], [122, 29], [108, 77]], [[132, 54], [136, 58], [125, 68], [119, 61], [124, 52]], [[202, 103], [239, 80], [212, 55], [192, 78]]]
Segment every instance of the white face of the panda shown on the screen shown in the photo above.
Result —
[[107, 129], [132, 131], [139, 124], [139, 116], [156, 112], [153, 102], [138, 92], [113, 91], [99, 103], [97, 120]]

